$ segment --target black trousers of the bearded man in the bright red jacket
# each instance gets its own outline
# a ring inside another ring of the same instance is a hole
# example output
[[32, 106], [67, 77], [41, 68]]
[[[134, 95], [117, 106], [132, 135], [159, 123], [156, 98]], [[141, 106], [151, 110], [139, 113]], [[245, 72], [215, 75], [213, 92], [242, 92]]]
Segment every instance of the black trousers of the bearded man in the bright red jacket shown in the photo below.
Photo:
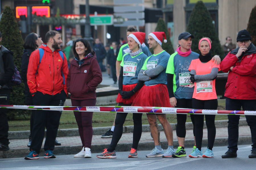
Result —
[[[63, 106], [66, 94], [63, 91], [59, 94], [49, 95], [42, 92], [36, 92], [33, 96], [33, 104], [38, 106]], [[32, 130], [32, 143], [30, 150], [37, 153], [40, 152], [43, 140], [44, 131], [47, 126], [46, 140], [44, 143], [44, 150], [53, 150], [54, 141], [57, 136], [59, 128], [59, 120], [61, 111], [40, 111], [35, 110], [33, 114], [34, 124]]]

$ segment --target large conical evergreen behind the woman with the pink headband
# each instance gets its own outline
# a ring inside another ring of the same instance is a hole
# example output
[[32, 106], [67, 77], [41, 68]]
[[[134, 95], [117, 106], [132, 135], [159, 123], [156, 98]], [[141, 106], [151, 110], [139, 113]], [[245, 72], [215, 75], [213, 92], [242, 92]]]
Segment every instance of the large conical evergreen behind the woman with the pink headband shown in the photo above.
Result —
[[191, 12], [189, 23], [187, 25], [187, 32], [191, 33], [195, 37], [191, 45], [192, 51], [199, 53], [199, 39], [209, 37], [212, 40], [212, 56], [220, 55], [221, 59], [225, 57], [220, 46], [220, 40], [215, 31], [214, 24], [212, 23], [210, 12], [202, 1], [198, 1]]

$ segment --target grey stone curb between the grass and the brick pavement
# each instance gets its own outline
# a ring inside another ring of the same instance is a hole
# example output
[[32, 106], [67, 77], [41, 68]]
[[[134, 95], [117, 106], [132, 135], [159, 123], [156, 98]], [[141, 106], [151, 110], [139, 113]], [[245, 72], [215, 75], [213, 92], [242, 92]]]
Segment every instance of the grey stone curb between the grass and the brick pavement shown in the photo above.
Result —
[[[186, 129], [193, 129], [192, 122], [186, 122]], [[158, 124], [160, 131], [163, 130], [161, 124]], [[171, 123], [172, 129], [176, 130], [177, 123]], [[246, 119], [239, 120], [239, 126], [247, 126]], [[215, 121], [216, 128], [224, 128], [228, 127], [228, 120], [216, 120]], [[102, 135], [106, 133], [111, 127], [98, 127], [92, 128], [93, 135]], [[206, 124], [204, 123], [204, 129], [207, 128]], [[149, 125], [142, 125], [143, 132], [149, 132], [150, 128]], [[123, 133], [132, 133], [133, 132], [133, 125], [130, 126], [123, 126]], [[28, 139], [30, 135], [30, 131], [9, 131], [8, 138], [9, 139]], [[79, 136], [78, 128], [74, 129], [58, 129], [57, 137], [65, 137], [65, 136]]]

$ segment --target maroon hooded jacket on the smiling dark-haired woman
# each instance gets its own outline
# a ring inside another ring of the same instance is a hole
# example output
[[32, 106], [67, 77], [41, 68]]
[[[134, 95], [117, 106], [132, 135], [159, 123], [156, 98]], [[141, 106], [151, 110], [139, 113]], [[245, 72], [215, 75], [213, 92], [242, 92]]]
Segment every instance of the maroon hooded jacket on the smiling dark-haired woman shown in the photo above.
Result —
[[71, 99], [96, 99], [96, 87], [102, 82], [102, 74], [95, 52], [92, 54], [94, 56], [85, 59], [80, 67], [75, 59], [70, 63], [67, 91]]

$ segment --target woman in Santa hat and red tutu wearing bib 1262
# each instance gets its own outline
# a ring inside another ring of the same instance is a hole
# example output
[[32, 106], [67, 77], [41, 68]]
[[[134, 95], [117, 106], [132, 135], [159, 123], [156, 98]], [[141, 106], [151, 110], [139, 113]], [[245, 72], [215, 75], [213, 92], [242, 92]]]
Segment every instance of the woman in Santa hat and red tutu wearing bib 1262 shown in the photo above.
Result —
[[[146, 54], [141, 50], [141, 46], [145, 46], [145, 33], [135, 32], [128, 36], [129, 53], [123, 56], [121, 61], [121, 70], [118, 79], [119, 94], [116, 102], [119, 106], [131, 106], [133, 100], [137, 97], [139, 90], [144, 85], [144, 81], [138, 80], [138, 74], [144, 62], [146, 61]], [[104, 149], [102, 154], [97, 155], [98, 158], [116, 158], [115, 147], [122, 136], [123, 124], [127, 113], [117, 112], [115, 118], [115, 129], [110, 146]], [[131, 148], [128, 158], [136, 158], [137, 147], [141, 139], [142, 123], [141, 113], [133, 113], [133, 146]]]

